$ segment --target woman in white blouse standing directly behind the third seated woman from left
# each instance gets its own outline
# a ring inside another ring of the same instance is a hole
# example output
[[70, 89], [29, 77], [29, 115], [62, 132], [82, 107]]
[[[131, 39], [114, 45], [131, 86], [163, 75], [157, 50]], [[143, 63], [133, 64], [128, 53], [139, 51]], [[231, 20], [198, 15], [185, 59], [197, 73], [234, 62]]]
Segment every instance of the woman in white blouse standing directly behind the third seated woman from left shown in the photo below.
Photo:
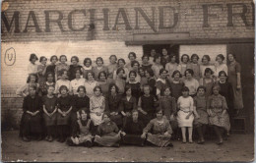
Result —
[[69, 90], [71, 90], [71, 84], [70, 81], [68, 81], [68, 71], [67, 70], [61, 70], [59, 72], [59, 77], [61, 77], [58, 81], [56, 81], [55, 85], [55, 94], [58, 94], [59, 88], [61, 85], [65, 85]]

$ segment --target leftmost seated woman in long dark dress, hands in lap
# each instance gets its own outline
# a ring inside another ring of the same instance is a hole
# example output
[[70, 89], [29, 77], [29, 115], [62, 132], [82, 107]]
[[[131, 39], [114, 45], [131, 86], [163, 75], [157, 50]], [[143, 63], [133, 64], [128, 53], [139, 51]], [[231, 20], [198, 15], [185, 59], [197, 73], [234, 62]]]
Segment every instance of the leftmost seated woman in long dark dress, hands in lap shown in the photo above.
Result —
[[22, 136], [25, 141], [30, 141], [31, 136], [35, 136], [38, 140], [41, 139], [42, 101], [41, 98], [35, 94], [35, 90], [36, 86], [31, 85], [29, 95], [24, 98], [23, 103], [24, 113], [21, 121], [20, 136]]

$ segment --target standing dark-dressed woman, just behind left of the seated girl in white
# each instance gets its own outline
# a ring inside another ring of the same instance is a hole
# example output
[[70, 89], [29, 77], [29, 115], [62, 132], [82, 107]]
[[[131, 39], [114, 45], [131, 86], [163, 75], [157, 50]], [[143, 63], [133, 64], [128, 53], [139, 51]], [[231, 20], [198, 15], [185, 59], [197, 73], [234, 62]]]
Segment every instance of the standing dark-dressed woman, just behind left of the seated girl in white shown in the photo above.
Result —
[[182, 78], [182, 75], [180, 74], [180, 72], [178, 70], [176, 70], [172, 73], [171, 78], [173, 79], [169, 84], [169, 87], [172, 91], [171, 95], [176, 100], [178, 100], [178, 97], [180, 97], [182, 95], [181, 90], [184, 87], [184, 82], [180, 81], [180, 79]]

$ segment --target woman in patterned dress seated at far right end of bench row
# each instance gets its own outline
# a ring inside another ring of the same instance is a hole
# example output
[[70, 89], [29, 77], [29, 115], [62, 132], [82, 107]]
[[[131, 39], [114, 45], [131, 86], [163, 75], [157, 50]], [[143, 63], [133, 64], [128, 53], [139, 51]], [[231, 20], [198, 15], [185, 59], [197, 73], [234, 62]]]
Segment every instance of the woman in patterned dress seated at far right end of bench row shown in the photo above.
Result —
[[207, 111], [209, 114], [209, 124], [214, 126], [216, 135], [219, 138], [217, 144], [223, 144], [223, 133], [229, 132], [230, 123], [229, 116], [226, 112], [227, 105], [220, 93], [220, 85], [216, 84], [213, 86], [213, 95], [208, 98]]

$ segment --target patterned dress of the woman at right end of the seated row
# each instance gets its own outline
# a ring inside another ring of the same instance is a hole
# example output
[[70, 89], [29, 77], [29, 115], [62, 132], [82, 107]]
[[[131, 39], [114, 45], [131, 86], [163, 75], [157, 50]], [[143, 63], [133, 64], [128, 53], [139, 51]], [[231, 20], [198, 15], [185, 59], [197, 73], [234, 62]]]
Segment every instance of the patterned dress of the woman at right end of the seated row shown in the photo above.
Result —
[[210, 109], [211, 114], [209, 117], [210, 125], [215, 125], [230, 130], [229, 116], [227, 112], [223, 115], [223, 111], [227, 109], [224, 96], [221, 94], [211, 95], [207, 101], [207, 109]]

